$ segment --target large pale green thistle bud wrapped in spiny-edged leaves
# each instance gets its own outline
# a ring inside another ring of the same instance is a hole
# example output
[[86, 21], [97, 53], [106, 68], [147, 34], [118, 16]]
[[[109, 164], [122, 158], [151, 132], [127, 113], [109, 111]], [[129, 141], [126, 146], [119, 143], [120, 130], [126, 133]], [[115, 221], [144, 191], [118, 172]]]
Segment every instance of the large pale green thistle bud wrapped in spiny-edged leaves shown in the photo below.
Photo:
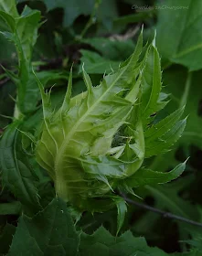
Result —
[[[93, 86], [82, 68], [87, 91], [71, 97], [68, 90], [58, 111], [39, 80], [43, 126], [37, 145], [37, 162], [48, 171], [58, 197], [81, 211], [103, 211], [118, 206], [116, 191], [133, 193], [133, 187], [165, 183], [184, 171], [185, 163], [168, 173], [150, 170], [144, 159], [165, 153], [181, 136], [184, 108], [156, 122], [167, 95], [163, 93], [161, 65], [154, 40], [143, 46], [141, 32], [132, 56], [118, 70]], [[122, 220], [120, 220], [120, 223]]]

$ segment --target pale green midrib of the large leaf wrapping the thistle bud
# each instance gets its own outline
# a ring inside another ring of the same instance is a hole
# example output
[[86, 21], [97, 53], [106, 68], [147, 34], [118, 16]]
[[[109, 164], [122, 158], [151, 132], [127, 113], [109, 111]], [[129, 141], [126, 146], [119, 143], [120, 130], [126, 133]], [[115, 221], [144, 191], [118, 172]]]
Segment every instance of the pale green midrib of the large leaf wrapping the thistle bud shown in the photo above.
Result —
[[[131, 61], [130, 61], [131, 62]], [[128, 63], [128, 65], [130, 65], [130, 62]], [[83, 114], [83, 116], [80, 117], [80, 119], [78, 120], [77, 123], [74, 124], [74, 126], [71, 128], [71, 131], [69, 132], [69, 135], [66, 137], [66, 139], [64, 140], [64, 142], [61, 144], [60, 148], [58, 149], [58, 154], [56, 156], [56, 160], [55, 160], [55, 169], [58, 169], [60, 160], [64, 154], [65, 148], [67, 146], [67, 144], [69, 144], [69, 141], [71, 140], [71, 137], [73, 136], [74, 133], [77, 132], [78, 127], [80, 126], [80, 123], [82, 123], [85, 118], [90, 114], [90, 112], [92, 112], [96, 106], [101, 102], [101, 100], [105, 97], [105, 95], [107, 95], [107, 93], [109, 91], [111, 91], [112, 87], [116, 84], [117, 80], [120, 80], [120, 78], [122, 77], [122, 74], [125, 72], [125, 70], [128, 68], [128, 65], [122, 70], [122, 72], [120, 73], [120, 75], [117, 77], [116, 80], [114, 80], [112, 82], [112, 85], [101, 95], [100, 99], [98, 99], [97, 101], [95, 101], [91, 107], [87, 110], [87, 112], [85, 112]], [[88, 97], [88, 96], [87, 96]], [[56, 172], [57, 173], [57, 172]]]

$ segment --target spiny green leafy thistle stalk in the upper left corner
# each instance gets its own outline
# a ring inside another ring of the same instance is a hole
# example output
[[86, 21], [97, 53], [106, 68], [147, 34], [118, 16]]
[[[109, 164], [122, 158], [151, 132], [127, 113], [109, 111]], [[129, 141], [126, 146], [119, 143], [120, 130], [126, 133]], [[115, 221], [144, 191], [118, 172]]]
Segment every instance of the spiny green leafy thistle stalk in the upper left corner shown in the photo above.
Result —
[[18, 74], [6, 70], [7, 75], [15, 81], [17, 86], [16, 117], [21, 113], [33, 111], [37, 101], [37, 87], [33, 88], [33, 75], [31, 70], [31, 58], [33, 47], [37, 41], [37, 29], [39, 27], [40, 12], [25, 7], [21, 16], [16, 10], [16, 1], [2, 1], [0, 4], [0, 16], [5, 20], [4, 32], [1, 32], [8, 40], [16, 45], [19, 59]]

